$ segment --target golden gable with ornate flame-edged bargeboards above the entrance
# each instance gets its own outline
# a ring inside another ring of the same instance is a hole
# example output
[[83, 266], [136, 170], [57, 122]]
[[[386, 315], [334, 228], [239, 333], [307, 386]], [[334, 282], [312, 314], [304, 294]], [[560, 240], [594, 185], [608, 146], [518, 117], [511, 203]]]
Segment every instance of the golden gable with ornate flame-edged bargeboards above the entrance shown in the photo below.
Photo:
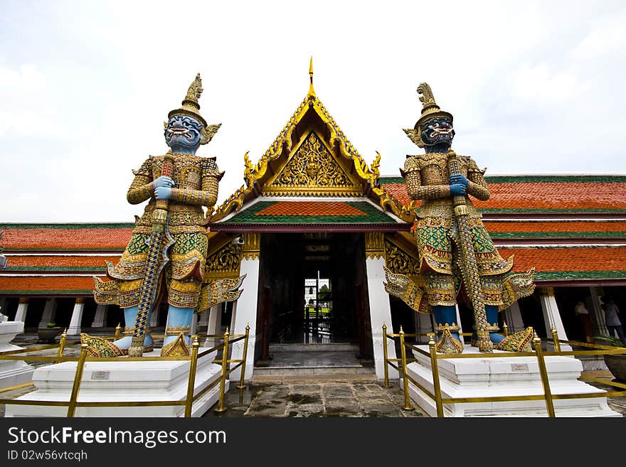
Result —
[[405, 222], [414, 213], [378, 184], [381, 155], [366, 163], [320, 102], [311, 85], [307, 97], [257, 163], [243, 155], [245, 185], [230, 195], [211, 222], [238, 213], [259, 196], [362, 196]]

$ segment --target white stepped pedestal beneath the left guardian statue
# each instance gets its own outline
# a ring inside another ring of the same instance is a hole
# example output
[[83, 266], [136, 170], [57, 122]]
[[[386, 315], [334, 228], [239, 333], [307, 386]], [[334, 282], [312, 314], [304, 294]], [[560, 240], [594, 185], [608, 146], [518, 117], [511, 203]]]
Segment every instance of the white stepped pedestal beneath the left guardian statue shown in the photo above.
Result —
[[[144, 356], [159, 356], [161, 349]], [[221, 375], [221, 365], [212, 363], [217, 352], [198, 359], [194, 394], [203, 390]], [[86, 362], [78, 402], [181, 401], [186, 398], [189, 361], [162, 362]], [[36, 391], [19, 400], [64, 401], [70, 399], [75, 362], [40, 367], [33, 373]], [[220, 384], [216, 383], [193, 402], [191, 417], [201, 417], [219, 399]], [[225, 391], [228, 390], [226, 380]], [[6, 405], [5, 417], [66, 417], [68, 407], [37, 405]], [[183, 417], [184, 406], [164, 407], [77, 407], [75, 417]]]

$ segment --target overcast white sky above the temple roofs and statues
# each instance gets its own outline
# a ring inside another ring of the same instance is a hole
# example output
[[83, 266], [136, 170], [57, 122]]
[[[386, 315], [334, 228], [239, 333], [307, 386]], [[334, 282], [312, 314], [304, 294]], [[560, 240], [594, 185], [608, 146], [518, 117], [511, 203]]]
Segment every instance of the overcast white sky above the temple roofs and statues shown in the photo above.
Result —
[[428, 82], [487, 174], [626, 173], [623, 1], [0, 0], [0, 222], [132, 222], [196, 73], [198, 155], [243, 183], [308, 90], [398, 175]]

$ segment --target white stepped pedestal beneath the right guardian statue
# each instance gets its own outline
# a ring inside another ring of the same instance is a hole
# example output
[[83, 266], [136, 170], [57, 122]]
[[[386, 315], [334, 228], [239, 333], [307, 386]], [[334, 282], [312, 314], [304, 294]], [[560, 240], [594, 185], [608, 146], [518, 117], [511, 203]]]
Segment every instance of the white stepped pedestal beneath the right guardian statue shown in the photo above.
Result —
[[[418, 345], [428, 352], [428, 345]], [[478, 353], [465, 345], [464, 353]], [[500, 350], [494, 352], [502, 353]], [[430, 357], [415, 352], [417, 362], [407, 365], [416, 382], [434, 394]], [[452, 358], [438, 360], [443, 398], [497, 397], [543, 394], [539, 365], [534, 357]], [[572, 357], [546, 357], [548, 380], [553, 395], [605, 392], [578, 381], [583, 365]], [[403, 382], [400, 380], [400, 387]], [[409, 394], [430, 417], [437, 417], [435, 400], [409, 380]], [[553, 400], [556, 417], [622, 417], [612, 411], [605, 397]], [[444, 404], [444, 417], [548, 417], [543, 399], [512, 402], [467, 402]]]

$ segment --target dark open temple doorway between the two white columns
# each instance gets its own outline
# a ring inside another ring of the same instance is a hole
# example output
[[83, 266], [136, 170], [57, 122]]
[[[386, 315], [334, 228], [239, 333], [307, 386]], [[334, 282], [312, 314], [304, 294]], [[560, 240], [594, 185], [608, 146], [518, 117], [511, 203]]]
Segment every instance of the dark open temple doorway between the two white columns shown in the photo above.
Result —
[[259, 285], [257, 365], [296, 346], [371, 358], [362, 233], [262, 234]]

